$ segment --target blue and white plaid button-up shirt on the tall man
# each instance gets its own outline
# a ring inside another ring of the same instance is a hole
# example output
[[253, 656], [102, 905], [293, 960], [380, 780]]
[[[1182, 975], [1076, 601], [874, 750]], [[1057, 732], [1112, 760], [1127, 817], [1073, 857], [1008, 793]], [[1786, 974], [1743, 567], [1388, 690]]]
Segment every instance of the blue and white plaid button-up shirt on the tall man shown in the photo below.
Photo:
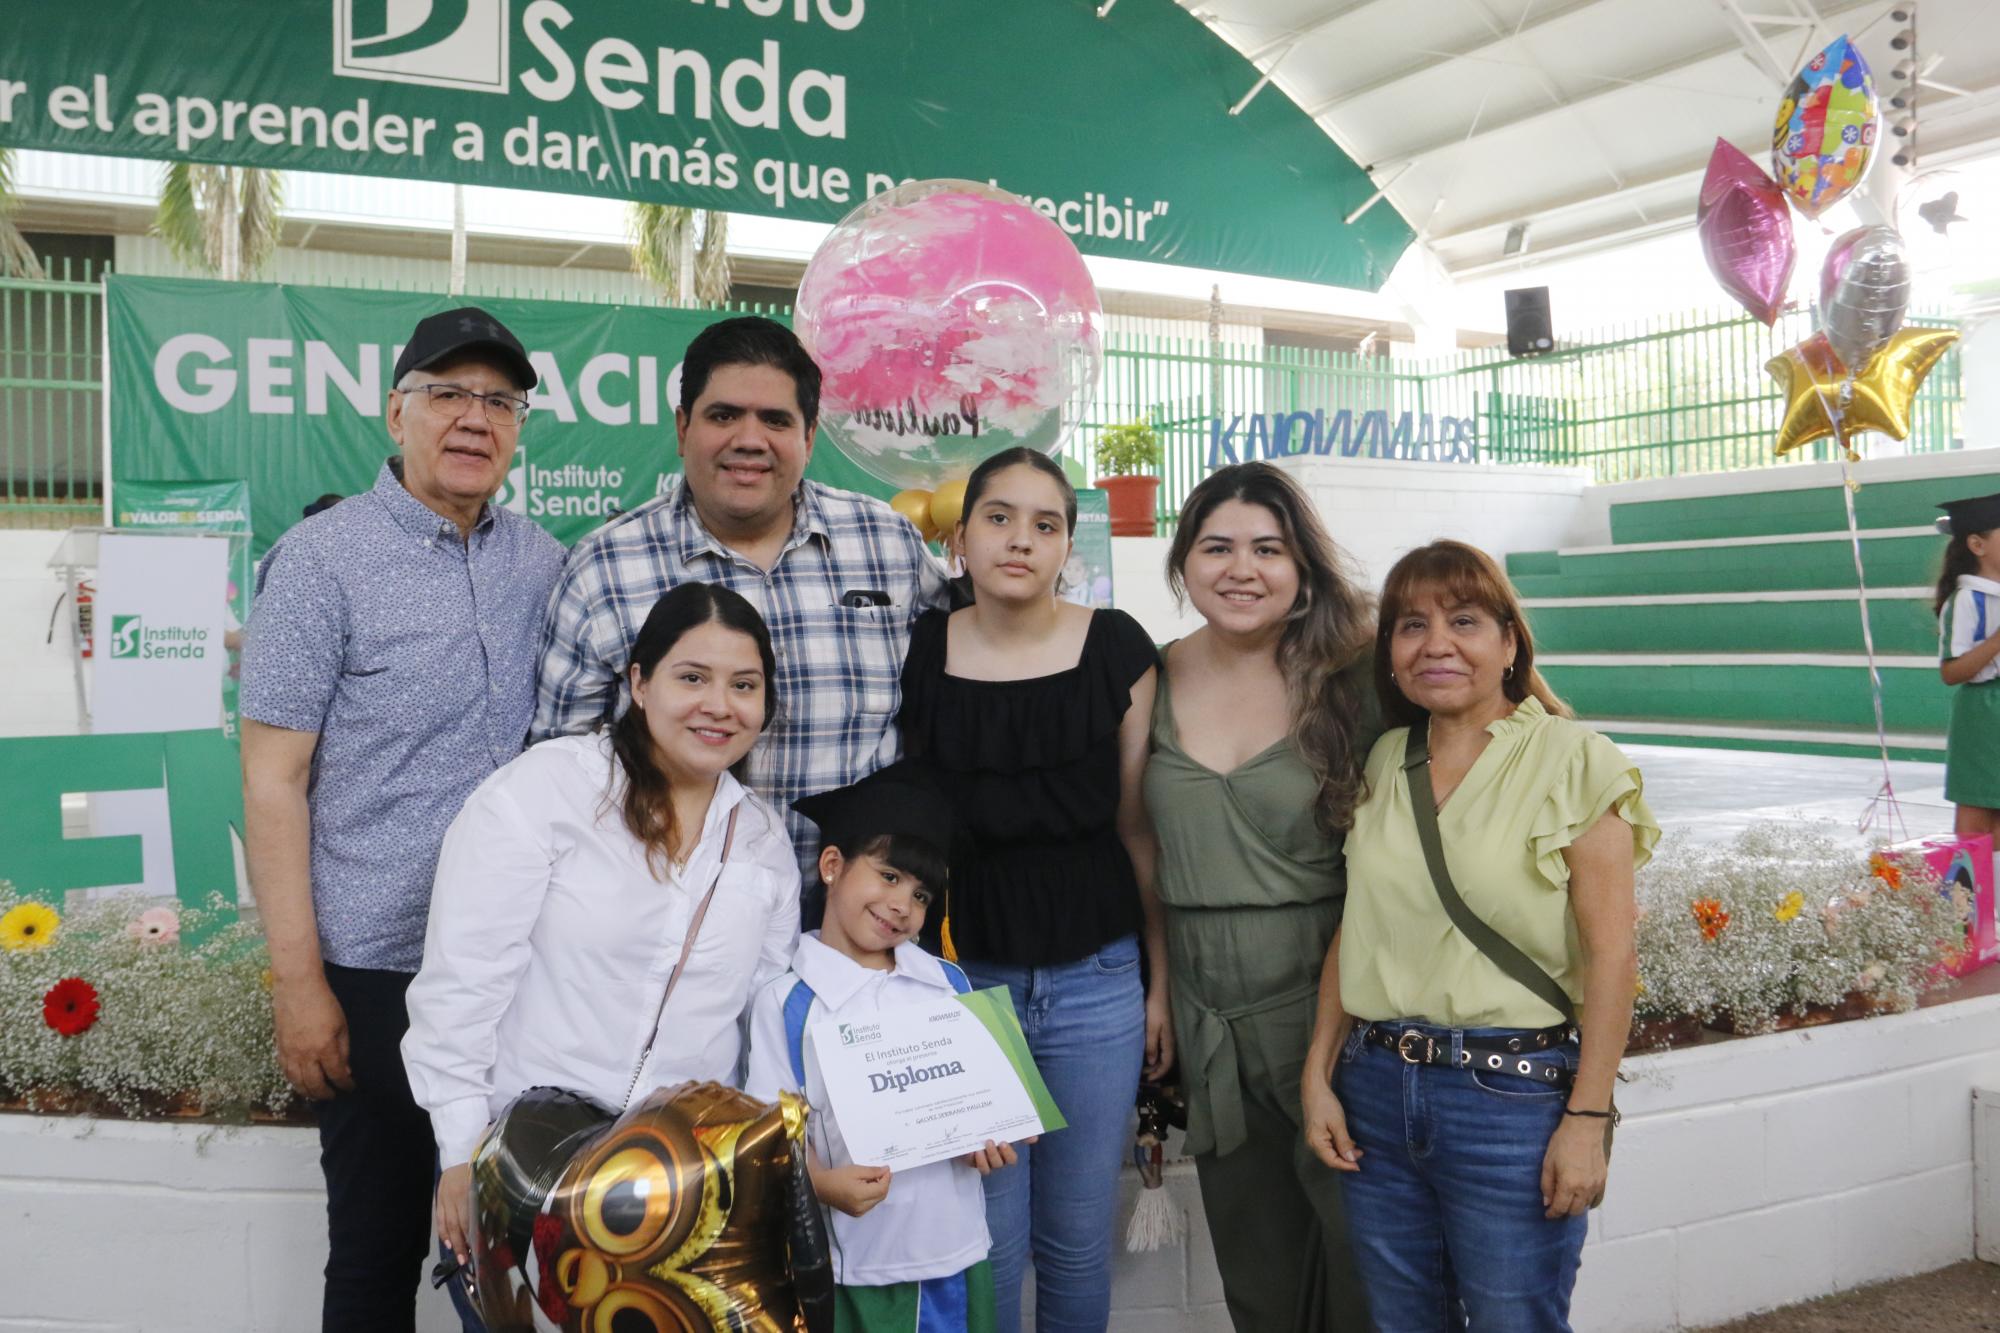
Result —
[[[646, 612], [690, 580], [740, 592], [770, 626], [778, 715], [750, 753], [750, 787], [784, 811], [806, 867], [820, 837], [790, 805], [900, 753], [910, 624], [946, 604], [944, 570], [888, 504], [810, 480], [792, 502], [792, 536], [764, 570], [710, 536], [686, 484], [674, 482], [570, 552], [548, 602], [536, 741], [590, 731], [624, 709]], [[888, 604], [842, 606], [846, 592], [878, 592]]]

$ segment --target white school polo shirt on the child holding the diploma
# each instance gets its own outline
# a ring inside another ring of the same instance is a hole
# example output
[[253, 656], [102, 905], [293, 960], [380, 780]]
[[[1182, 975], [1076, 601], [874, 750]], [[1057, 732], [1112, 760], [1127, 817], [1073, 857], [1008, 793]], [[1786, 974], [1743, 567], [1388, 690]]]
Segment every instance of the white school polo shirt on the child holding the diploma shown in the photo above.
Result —
[[[812, 1029], [826, 1017], [868, 1019], [898, 1005], [928, 1003], [952, 995], [944, 965], [918, 945], [896, 945], [896, 969], [874, 971], [820, 943], [820, 933], [800, 937], [792, 971], [768, 983], [750, 1009], [750, 1077], [744, 1091], [774, 1101], [778, 1089], [798, 1093], [792, 1051], [784, 1033], [784, 999], [804, 981], [814, 1003], [806, 1015], [806, 1089], [812, 1119], [806, 1133], [830, 1167], [848, 1167], [854, 1157], [826, 1099], [820, 1061], [812, 1049]], [[866, 1165], [866, 1163], [864, 1163]], [[1002, 1167], [1026, 1171], [1026, 1167]], [[834, 1281], [842, 1287], [888, 1287], [928, 1277], [950, 1277], [986, 1257], [986, 1189], [980, 1173], [958, 1161], [896, 1171], [888, 1197], [862, 1217], [840, 1209], [832, 1215]]]

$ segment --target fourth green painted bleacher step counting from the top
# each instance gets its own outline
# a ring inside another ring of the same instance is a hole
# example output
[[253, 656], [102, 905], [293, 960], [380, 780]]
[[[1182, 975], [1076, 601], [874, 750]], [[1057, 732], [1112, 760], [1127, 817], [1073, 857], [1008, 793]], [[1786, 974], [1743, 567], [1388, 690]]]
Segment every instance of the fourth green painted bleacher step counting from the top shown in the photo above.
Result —
[[[1704, 660], [1686, 654], [1618, 658], [1538, 652], [1536, 666], [1542, 666], [1550, 687], [1578, 717], [1874, 727], [1868, 669], [1850, 656]], [[1938, 679], [1936, 662], [1886, 658], [1882, 713], [1890, 731], [1942, 733], [1950, 715], [1950, 689]]]

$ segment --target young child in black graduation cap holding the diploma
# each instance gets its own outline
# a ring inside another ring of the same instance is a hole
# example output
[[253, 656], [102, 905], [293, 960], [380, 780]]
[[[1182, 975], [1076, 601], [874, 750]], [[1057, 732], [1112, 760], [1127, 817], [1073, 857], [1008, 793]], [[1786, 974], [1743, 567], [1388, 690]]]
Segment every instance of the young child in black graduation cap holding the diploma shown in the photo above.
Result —
[[776, 1099], [784, 1089], [812, 1105], [812, 1187], [834, 1209], [836, 1333], [992, 1333], [980, 1177], [1014, 1165], [1014, 1149], [988, 1143], [956, 1161], [898, 1171], [894, 1181], [886, 1167], [856, 1163], [812, 1037], [828, 1017], [866, 1021], [972, 989], [956, 963], [916, 943], [930, 905], [944, 897], [952, 805], [934, 779], [892, 765], [792, 809], [820, 825], [826, 919], [800, 937], [792, 971], [752, 1003], [744, 1091]]

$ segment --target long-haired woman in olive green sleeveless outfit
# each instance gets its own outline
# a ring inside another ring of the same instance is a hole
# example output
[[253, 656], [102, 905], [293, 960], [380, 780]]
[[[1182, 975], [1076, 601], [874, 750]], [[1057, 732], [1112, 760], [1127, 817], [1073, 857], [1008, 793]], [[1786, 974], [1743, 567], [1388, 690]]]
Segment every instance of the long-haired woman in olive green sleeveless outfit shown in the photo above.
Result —
[[1146, 809], [1188, 1093], [1188, 1153], [1242, 1333], [1364, 1333], [1340, 1187], [1298, 1081], [1374, 743], [1372, 604], [1268, 462], [1194, 488], [1168, 582], [1208, 620], [1166, 650]]

